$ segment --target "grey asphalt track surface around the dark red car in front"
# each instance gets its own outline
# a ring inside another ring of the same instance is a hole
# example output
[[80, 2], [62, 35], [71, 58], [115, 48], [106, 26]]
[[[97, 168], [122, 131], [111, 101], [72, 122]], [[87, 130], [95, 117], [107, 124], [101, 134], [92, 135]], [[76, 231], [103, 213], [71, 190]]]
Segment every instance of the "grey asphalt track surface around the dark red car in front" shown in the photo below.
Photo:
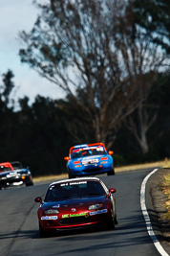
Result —
[[60, 232], [40, 239], [34, 202], [44, 197], [48, 184], [0, 191], [0, 255], [114, 255], [159, 256], [148, 235], [140, 210], [140, 186], [152, 169], [114, 176], [98, 175], [109, 188], [116, 188], [118, 225]]

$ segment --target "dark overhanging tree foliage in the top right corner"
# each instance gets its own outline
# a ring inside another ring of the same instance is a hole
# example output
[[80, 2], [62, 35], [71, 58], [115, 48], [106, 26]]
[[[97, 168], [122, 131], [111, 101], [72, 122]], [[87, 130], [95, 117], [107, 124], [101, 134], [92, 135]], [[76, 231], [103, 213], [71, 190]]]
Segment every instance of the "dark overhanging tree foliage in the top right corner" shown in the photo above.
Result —
[[135, 0], [133, 12], [143, 34], [170, 54], [170, 1]]

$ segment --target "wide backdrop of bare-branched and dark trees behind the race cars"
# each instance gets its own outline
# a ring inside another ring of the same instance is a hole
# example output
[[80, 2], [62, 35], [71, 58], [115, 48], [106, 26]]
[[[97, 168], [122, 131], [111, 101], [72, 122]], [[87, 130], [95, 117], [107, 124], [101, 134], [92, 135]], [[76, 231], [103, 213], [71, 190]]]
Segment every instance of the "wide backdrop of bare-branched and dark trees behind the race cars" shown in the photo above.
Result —
[[34, 176], [64, 174], [69, 148], [95, 142], [115, 152], [115, 166], [169, 158], [170, 3], [34, 4], [39, 15], [20, 33], [18, 58], [66, 97], [16, 100], [14, 74], [3, 74], [0, 162], [18, 160]]

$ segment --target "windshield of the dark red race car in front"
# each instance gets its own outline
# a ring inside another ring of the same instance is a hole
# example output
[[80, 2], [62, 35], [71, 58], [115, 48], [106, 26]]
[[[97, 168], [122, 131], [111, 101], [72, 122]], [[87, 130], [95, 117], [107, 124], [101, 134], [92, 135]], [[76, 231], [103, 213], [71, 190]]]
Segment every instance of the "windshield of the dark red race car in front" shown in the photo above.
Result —
[[98, 181], [75, 181], [51, 186], [47, 192], [45, 201], [101, 197], [104, 195], [104, 189]]

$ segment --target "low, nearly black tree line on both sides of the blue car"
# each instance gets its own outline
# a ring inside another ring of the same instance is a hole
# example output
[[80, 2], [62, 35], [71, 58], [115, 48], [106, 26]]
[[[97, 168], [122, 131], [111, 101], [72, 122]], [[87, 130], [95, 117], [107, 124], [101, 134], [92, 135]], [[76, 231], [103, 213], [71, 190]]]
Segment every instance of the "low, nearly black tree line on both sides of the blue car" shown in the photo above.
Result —
[[[79, 143], [96, 142], [90, 124], [84, 117], [82, 129], [82, 124], [78, 123], [81, 111], [74, 109], [69, 98], [54, 101], [37, 96], [29, 105], [29, 98], [25, 97], [18, 102], [20, 109], [14, 110], [14, 103], [10, 100], [14, 86], [12, 77], [8, 71], [1, 86], [0, 161], [19, 160], [25, 167], [30, 167], [33, 175], [65, 173], [63, 158], [68, 155], [69, 148]], [[169, 84], [170, 75], [159, 74], [148, 99], [150, 111], [154, 108], [158, 112], [155, 124], [147, 134], [149, 151], [143, 154], [134, 134], [125, 125], [121, 126], [111, 147], [115, 151], [116, 166], [170, 157]], [[76, 129], [75, 137], [71, 128]]]

